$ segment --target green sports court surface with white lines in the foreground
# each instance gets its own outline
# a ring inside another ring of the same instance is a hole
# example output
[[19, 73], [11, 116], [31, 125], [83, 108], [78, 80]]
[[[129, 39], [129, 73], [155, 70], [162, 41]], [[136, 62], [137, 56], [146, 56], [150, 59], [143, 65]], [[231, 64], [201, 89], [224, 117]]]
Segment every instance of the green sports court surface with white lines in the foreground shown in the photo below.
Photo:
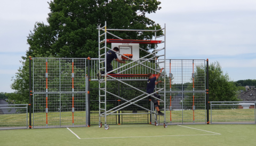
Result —
[[110, 125], [0, 131], [0, 145], [255, 145], [255, 125]]

